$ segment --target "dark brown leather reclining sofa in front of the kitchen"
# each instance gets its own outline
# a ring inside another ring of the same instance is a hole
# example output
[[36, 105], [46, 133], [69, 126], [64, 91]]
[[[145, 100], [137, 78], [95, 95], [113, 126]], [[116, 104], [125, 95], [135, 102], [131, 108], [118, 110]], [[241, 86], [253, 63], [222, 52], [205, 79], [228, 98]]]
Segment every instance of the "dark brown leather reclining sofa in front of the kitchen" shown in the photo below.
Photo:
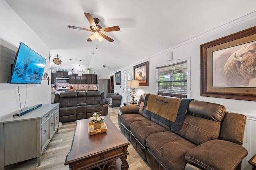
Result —
[[86, 119], [93, 113], [108, 115], [108, 101], [100, 91], [61, 92], [55, 94], [54, 103], [60, 104], [60, 122]]

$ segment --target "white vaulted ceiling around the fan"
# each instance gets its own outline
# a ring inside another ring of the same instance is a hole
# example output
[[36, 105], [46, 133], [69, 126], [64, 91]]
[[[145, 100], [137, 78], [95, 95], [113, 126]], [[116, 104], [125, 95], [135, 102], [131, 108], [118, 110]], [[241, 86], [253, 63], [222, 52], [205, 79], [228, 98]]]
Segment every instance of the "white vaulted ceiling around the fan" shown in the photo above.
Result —
[[[6, 0], [42, 39], [51, 55], [61, 55], [60, 67], [79, 64], [110, 73], [142, 61], [255, 11], [255, 0]], [[102, 27], [112, 43], [88, 42], [92, 32], [84, 12]], [[198, 47], [199, 48], [199, 47]], [[51, 58], [53, 59], [53, 58]], [[102, 65], [107, 66], [106, 70]], [[57, 65], [52, 63], [52, 67]]]

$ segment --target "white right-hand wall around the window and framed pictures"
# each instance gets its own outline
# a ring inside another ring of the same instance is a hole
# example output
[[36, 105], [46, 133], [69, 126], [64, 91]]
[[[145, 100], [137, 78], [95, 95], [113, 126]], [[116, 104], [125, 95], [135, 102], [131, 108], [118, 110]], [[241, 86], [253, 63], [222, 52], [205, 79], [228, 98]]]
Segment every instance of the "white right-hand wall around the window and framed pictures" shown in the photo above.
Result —
[[[230, 35], [232, 33], [236, 33], [238, 31], [253, 27], [255, 26], [255, 21], [256, 12], [248, 16], [239, 18], [230, 23], [227, 23], [225, 25], [222, 25], [207, 33], [194, 37], [193, 39], [190, 39], [184, 43], [178, 44], [174, 47], [170, 47], [169, 49], [161, 51], [158, 54], [149, 56], [148, 60], [146, 60], [149, 62], [149, 86], [140, 86], [140, 89], [136, 89], [137, 98], [143, 93], [156, 93], [156, 66], [171, 63], [166, 61], [166, 52], [173, 51], [173, 61], [177, 61], [178, 59], [184, 59], [186, 57], [191, 57], [191, 83], [189, 98], [222, 104], [226, 106], [227, 111], [241, 113], [247, 116], [248, 120], [246, 124], [243, 146], [248, 150], [248, 156], [243, 161], [243, 170], [251, 169], [252, 166], [248, 164], [248, 160], [256, 153], [256, 136], [252, 133], [252, 129], [256, 126], [256, 102], [200, 96], [200, 45], [224, 37], [226, 35]], [[134, 63], [131, 66], [127, 66], [126, 68], [121, 69], [121, 71], [127, 70], [128, 68], [133, 70], [134, 65], [143, 63], [144, 61]], [[115, 72], [117, 71], [120, 70], [116, 70]], [[112, 74], [114, 74], [114, 72]], [[119, 88], [119, 85], [115, 86], [114, 88], [117, 89], [120, 94], [122, 94], [122, 89]]]

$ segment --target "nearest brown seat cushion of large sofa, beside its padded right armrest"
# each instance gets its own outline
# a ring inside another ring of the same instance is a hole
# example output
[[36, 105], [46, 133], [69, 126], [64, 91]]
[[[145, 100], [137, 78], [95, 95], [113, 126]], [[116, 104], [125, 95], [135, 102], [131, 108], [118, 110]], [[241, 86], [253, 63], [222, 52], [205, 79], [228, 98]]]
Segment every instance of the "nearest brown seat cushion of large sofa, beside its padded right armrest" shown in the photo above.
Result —
[[185, 155], [196, 147], [195, 144], [170, 131], [148, 135], [146, 146], [168, 170], [185, 169]]

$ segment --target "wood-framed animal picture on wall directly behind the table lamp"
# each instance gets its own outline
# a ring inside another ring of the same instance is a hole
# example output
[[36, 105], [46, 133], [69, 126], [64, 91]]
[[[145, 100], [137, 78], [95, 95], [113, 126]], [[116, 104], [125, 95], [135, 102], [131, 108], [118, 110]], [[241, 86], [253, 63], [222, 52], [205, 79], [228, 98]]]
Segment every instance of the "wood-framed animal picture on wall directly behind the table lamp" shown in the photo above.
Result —
[[148, 86], [148, 61], [133, 67], [133, 78], [139, 80], [140, 86]]

